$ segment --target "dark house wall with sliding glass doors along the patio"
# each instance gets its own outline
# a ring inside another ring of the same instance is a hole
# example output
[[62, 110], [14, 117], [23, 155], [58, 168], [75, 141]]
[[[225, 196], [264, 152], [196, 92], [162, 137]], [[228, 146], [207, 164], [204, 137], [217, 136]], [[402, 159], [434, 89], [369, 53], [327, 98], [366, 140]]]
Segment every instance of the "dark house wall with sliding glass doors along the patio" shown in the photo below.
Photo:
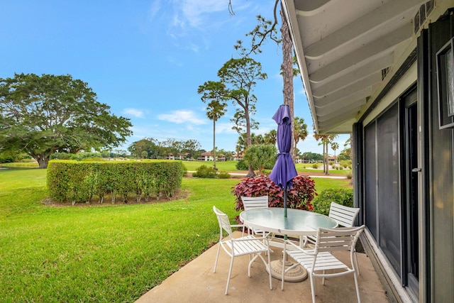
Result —
[[[404, 285], [402, 290], [407, 293], [411, 284], [408, 179], [416, 169], [420, 193], [419, 294], [409, 297], [420, 302], [454, 302], [454, 128], [439, 128], [436, 73], [436, 53], [454, 36], [451, 15], [447, 13], [423, 30], [417, 68], [410, 67], [380, 104], [360, 119], [363, 128], [354, 138], [362, 143], [355, 153], [360, 162], [360, 176], [356, 178], [360, 180], [360, 193], [355, 196], [362, 207], [360, 220], [389, 265], [387, 274], [397, 281], [397, 287]], [[404, 95], [416, 80], [419, 167], [407, 167]]]

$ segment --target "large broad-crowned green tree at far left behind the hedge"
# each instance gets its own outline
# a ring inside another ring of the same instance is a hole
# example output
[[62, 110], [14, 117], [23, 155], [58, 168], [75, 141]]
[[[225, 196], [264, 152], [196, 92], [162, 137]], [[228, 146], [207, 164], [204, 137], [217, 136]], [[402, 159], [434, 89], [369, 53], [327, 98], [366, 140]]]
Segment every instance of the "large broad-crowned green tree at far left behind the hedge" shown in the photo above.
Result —
[[131, 135], [132, 124], [109, 109], [70, 75], [0, 79], [0, 152], [27, 153], [45, 168], [55, 152], [116, 147]]

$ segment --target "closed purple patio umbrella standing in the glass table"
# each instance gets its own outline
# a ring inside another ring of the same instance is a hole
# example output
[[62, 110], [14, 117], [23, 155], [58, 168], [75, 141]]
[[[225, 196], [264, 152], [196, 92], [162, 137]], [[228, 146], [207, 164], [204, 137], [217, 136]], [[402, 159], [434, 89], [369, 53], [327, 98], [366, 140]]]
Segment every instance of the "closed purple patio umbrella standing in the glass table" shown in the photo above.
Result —
[[298, 175], [292, 156], [289, 153], [292, 146], [292, 121], [290, 119], [289, 106], [287, 104], [279, 106], [272, 119], [277, 123], [276, 139], [279, 153], [277, 154], [275, 166], [272, 167], [270, 179], [277, 186], [284, 189], [284, 217], [287, 218], [287, 189], [292, 188], [293, 178]]

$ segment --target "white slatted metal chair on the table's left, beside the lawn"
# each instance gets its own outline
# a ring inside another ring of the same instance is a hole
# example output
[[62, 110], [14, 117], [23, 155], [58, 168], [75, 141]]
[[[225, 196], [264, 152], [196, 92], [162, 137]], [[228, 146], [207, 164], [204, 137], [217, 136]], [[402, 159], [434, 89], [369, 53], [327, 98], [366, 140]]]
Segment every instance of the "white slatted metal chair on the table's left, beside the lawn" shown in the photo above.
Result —
[[[214, 262], [214, 270], [216, 272], [216, 265], [218, 264], [219, 250], [221, 247], [223, 250], [231, 257], [230, 268], [228, 269], [227, 285], [226, 285], [226, 294], [228, 293], [228, 285], [230, 284], [230, 278], [233, 268], [233, 259], [240, 255], [253, 255], [253, 258], [250, 258], [248, 265], [248, 277], [250, 277], [250, 266], [253, 264], [256, 258], [262, 259], [267, 269], [268, 275], [270, 276], [270, 290], [272, 290], [271, 282], [271, 270], [270, 270], [270, 246], [268, 239], [265, 237], [255, 237], [253, 235], [243, 236], [241, 238], [233, 238], [232, 227], [241, 227], [242, 225], [232, 225], [228, 219], [228, 216], [222, 211], [213, 206], [213, 211], [218, 217], [219, 223], [219, 246], [218, 252], [216, 253], [216, 261]], [[228, 238], [223, 240], [223, 231], [228, 233]], [[261, 253], [266, 253], [268, 260], [266, 261], [263, 258]]]

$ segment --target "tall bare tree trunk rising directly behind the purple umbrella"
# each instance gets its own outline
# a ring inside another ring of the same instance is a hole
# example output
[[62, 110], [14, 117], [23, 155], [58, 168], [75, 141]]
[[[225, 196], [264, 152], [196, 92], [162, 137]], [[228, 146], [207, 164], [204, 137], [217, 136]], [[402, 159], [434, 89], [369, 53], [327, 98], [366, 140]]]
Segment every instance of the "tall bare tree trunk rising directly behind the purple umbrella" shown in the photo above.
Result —
[[292, 60], [292, 40], [290, 39], [289, 25], [285, 19], [282, 3], [281, 3], [281, 35], [282, 35], [282, 79], [284, 80], [284, 104], [289, 106], [290, 117], [292, 123], [292, 145], [290, 148], [290, 155], [295, 160], [295, 142], [294, 142], [294, 96], [293, 96], [293, 60]]

